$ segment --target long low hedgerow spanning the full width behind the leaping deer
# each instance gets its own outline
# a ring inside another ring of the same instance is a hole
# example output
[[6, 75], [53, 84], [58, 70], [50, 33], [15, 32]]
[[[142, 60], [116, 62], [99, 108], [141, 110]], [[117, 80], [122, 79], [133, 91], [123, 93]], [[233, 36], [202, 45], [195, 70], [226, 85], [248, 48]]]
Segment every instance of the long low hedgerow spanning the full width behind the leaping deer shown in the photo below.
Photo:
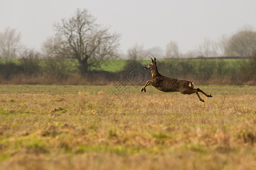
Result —
[[[0, 59], [0, 83], [13, 84], [114, 84], [141, 85], [151, 79], [144, 70], [150, 61], [118, 61], [120, 70], [109, 72], [92, 70], [80, 75], [78, 63], [70, 59]], [[143, 63], [142, 63], [143, 62]], [[111, 63], [111, 60], [106, 61]], [[109, 69], [104, 63], [104, 68]], [[176, 79], [187, 79], [196, 84], [256, 84], [256, 55], [251, 59], [162, 59], [158, 61], [159, 73]]]

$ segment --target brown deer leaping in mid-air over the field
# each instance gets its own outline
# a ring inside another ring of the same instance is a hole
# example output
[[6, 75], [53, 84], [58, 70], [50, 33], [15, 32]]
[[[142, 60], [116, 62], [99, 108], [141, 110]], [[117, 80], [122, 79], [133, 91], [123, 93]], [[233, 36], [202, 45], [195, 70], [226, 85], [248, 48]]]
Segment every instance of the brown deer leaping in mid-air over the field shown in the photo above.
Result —
[[152, 81], [147, 80], [147, 83], [141, 88], [141, 92], [146, 92], [146, 87], [148, 85], [154, 86], [157, 90], [162, 92], [181, 92], [184, 95], [191, 95], [196, 93], [197, 97], [200, 101], [203, 101], [199, 96], [198, 92], [201, 92], [207, 97], [212, 97], [212, 95], [207, 95], [203, 90], [200, 88], [194, 88], [194, 83], [189, 82], [187, 80], [177, 80], [168, 78], [167, 76], [163, 76], [158, 73], [158, 67], [156, 66], [156, 59], [154, 60], [151, 58], [152, 63], [148, 66], [144, 67], [145, 70], [150, 70], [152, 73]]

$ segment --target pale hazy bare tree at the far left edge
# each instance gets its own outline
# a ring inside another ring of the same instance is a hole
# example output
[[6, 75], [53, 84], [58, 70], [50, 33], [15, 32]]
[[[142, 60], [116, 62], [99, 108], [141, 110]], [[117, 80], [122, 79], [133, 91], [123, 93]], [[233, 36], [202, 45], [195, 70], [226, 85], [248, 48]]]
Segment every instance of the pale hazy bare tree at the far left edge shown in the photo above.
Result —
[[16, 33], [16, 29], [11, 29], [10, 27], [0, 33], [0, 57], [16, 58], [20, 38], [20, 33]]

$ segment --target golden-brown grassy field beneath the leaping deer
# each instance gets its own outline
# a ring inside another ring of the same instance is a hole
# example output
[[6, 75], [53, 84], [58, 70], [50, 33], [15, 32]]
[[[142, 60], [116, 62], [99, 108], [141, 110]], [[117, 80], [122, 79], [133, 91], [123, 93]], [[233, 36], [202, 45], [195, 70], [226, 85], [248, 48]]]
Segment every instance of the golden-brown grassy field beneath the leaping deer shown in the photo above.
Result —
[[256, 87], [0, 85], [0, 169], [255, 169]]

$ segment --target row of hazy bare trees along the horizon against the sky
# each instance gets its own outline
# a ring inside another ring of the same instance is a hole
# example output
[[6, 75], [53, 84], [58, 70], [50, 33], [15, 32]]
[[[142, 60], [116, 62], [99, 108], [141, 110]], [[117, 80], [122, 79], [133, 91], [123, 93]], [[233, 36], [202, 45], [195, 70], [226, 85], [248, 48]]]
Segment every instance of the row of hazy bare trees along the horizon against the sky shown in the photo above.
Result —
[[[110, 32], [108, 27], [96, 23], [96, 18], [86, 9], [77, 9], [70, 18], [61, 19], [53, 25], [55, 35], [44, 42], [42, 52], [35, 52], [20, 45], [20, 33], [6, 28], [0, 33], [0, 58], [51, 58], [75, 59], [79, 65], [76, 69], [81, 75], [99, 67], [104, 59], [119, 58], [118, 46], [120, 33]], [[159, 47], [144, 50], [135, 44], [127, 50], [127, 58], [144, 59], [146, 53], [163, 58], [191, 58], [209, 56], [254, 56], [256, 53], [256, 32], [246, 27], [232, 36], [222, 36], [215, 42], [205, 39], [192, 52], [182, 54], [177, 42], [170, 41], [166, 53]]]

